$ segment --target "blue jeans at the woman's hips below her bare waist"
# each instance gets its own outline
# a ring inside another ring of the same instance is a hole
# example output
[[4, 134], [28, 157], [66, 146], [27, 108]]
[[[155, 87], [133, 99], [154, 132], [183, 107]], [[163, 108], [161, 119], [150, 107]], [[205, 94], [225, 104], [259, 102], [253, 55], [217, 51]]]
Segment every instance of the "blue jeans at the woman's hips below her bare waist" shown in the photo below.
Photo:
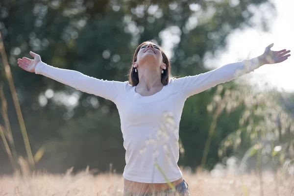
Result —
[[[183, 180], [180, 184], [176, 185], [174, 188], [176, 189], [176, 192], [180, 196], [190, 196], [188, 187], [189, 187], [188, 183], [185, 180]], [[158, 191], [148, 192], [148, 193], [132, 193], [132, 192], [128, 192], [124, 190], [123, 196], [177, 196], [177, 195], [172, 189], [166, 189], [166, 190], [158, 190]]]

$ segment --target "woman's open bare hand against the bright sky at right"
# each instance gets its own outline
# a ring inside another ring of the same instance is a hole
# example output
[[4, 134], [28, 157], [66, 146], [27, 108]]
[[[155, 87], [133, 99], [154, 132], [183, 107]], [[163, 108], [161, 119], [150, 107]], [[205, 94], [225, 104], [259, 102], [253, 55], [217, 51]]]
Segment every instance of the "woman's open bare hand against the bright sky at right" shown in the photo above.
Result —
[[290, 50], [282, 49], [280, 51], [273, 51], [270, 49], [271, 47], [273, 47], [273, 44], [270, 44], [265, 49], [265, 52], [261, 56], [259, 56], [261, 65], [281, 63], [287, 60], [289, 56], [291, 56], [291, 54], [289, 54]]

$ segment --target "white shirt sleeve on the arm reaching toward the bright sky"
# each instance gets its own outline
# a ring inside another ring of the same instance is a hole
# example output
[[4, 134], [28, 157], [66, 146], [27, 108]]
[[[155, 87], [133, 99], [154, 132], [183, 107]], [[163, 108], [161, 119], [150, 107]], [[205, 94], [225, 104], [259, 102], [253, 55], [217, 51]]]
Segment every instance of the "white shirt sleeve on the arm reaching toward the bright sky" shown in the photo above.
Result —
[[173, 88], [177, 91], [183, 92], [188, 98], [211, 87], [215, 87], [218, 84], [235, 79], [245, 73], [253, 72], [259, 67], [260, 64], [257, 58], [243, 60], [224, 65], [210, 72], [175, 78], [173, 79]]

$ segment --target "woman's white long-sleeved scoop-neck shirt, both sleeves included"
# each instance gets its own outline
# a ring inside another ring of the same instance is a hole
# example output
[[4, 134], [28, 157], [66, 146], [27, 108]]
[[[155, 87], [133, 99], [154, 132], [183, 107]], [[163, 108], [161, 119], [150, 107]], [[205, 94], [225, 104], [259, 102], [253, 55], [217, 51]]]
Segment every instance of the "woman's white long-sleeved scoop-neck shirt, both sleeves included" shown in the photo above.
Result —
[[143, 183], [166, 183], [182, 177], [179, 159], [179, 123], [186, 99], [217, 84], [230, 81], [259, 67], [256, 58], [224, 65], [207, 73], [172, 78], [151, 96], [136, 93], [129, 82], [107, 81], [82, 73], [54, 68], [39, 62], [35, 73], [45, 75], [85, 93], [113, 101], [123, 132], [125, 168], [123, 177]]

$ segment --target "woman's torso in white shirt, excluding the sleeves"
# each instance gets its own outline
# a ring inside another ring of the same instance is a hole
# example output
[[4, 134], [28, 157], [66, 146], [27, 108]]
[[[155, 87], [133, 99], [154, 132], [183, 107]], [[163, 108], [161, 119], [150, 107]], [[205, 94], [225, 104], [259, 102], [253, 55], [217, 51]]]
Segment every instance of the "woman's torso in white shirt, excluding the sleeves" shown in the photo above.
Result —
[[116, 98], [126, 150], [123, 172], [126, 180], [166, 183], [157, 166], [171, 182], [182, 177], [177, 166], [178, 129], [185, 100], [185, 95], [175, 91], [170, 83], [147, 97], [129, 85]]

